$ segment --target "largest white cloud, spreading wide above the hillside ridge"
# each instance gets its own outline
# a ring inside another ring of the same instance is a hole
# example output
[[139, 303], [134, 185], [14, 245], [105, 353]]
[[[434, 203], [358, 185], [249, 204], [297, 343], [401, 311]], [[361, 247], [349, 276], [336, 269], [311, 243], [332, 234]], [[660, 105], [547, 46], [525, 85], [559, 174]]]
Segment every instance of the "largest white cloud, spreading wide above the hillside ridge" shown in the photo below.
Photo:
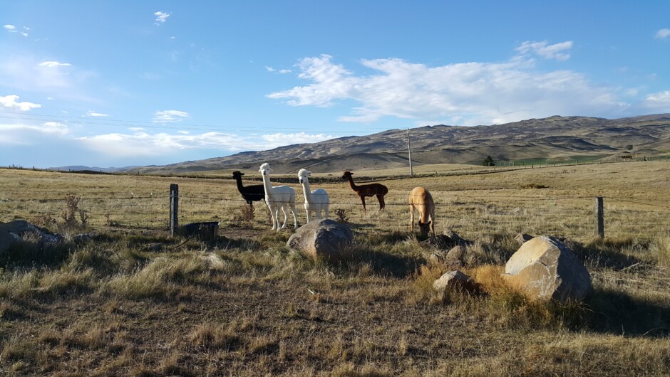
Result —
[[[547, 48], [550, 46], [547, 46]], [[530, 48], [530, 47], [528, 47]], [[557, 53], [561, 48], [550, 49]], [[438, 67], [388, 58], [361, 60], [373, 75], [354, 75], [331, 56], [299, 61], [299, 78], [309, 84], [267, 97], [293, 106], [325, 107], [338, 100], [359, 105], [344, 122], [381, 117], [461, 120], [465, 125], [514, 122], [551, 115], [615, 115], [629, 105], [616, 90], [592, 84], [571, 70], [540, 72], [530, 58], [507, 63], [455, 63]]]

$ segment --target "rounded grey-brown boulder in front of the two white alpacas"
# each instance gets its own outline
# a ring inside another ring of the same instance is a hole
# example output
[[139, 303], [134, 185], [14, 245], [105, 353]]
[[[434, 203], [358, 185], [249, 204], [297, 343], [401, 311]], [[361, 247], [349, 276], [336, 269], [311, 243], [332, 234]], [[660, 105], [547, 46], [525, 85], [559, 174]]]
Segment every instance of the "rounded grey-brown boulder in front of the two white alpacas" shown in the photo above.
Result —
[[289, 238], [287, 246], [311, 257], [339, 259], [346, 257], [354, 245], [354, 233], [348, 226], [330, 219], [302, 225]]

